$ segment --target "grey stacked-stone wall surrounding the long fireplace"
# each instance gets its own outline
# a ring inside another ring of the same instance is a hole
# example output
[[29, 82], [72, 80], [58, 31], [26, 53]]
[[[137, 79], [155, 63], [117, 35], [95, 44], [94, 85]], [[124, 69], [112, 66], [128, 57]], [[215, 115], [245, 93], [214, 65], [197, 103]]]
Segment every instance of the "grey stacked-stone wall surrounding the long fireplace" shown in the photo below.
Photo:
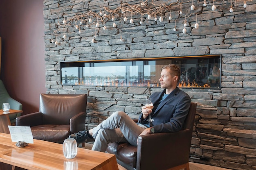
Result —
[[[119, 21], [113, 28], [110, 20], [107, 30], [100, 24], [99, 28], [82, 26], [78, 33], [74, 26], [58, 26], [63, 14], [68, 20], [89, 10], [99, 12], [100, 6], [116, 8], [120, 0], [45, 0], [47, 92], [88, 94], [86, 125], [90, 129], [117, 110], [137, 118], [146, 96], [162, 89], [64, 86], [60, 84], [60, 61], [222, 54], [220, 90], [183, 89], [198, 104], [191, 155], [204, 158], [190, 161], [236, 170], [256, 169], [256, 1], [247, 1], [244, 8], [243, 0], [233, 0], [233, 13], [229, 12], [230, 0], [215, 1], [216, 11], [211, 11], [212, 1], [207, 3], [204, 7], [202, 0], [194, 2], [198, 15], [187, 15], [186, 33], [182, 33], [180, 7], [171, 11], [172, 20], [166, 12], [163, 22]], [[189, 13], [190, 6], [191, 2], [182, 4], [183, 13]], [[175, 21], [177, 31], [173, 30]], [[198, 29], [194, 28], [196, 21]], [[94, 33], [97, 37], [92, 43]]]

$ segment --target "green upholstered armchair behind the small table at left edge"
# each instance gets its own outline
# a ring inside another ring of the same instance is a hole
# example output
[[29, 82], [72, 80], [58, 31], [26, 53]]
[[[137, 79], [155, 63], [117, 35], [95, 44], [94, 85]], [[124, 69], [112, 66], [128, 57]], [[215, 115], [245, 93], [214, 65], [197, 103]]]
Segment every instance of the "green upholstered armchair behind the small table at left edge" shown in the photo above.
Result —
[[[0, 109], [2, 109], [3, 103], [9, 103], [10, 109], [22, 110], [22, 104], [17, 100], [11, 98], [11, 96], [8, 94], [7, 90], [4, 87], [4, 83], [2, 82], [2, 80], [0, 80]], [[11, 123], [14, 123], [16, 118], [19, 117], [20, 114], [21, 113], [9, 115]]]

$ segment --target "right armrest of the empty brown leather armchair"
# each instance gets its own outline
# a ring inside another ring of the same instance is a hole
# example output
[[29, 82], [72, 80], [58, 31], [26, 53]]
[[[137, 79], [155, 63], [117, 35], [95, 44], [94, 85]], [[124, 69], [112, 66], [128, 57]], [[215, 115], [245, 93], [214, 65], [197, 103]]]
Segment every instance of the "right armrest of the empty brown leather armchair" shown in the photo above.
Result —
[[77, 133], [85, 130], [85, 112], [81, 112], [70, 118], [70, 133]]

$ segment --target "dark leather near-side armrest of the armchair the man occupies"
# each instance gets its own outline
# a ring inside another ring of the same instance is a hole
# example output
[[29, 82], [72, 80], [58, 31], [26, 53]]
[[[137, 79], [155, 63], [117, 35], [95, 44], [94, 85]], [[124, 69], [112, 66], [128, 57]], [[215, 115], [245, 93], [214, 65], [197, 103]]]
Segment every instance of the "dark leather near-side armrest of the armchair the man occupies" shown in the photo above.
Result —
[[167, 169], [188, 162], [191, 134], [191, 130], [184, 129], [139, 136], [137, 169]]

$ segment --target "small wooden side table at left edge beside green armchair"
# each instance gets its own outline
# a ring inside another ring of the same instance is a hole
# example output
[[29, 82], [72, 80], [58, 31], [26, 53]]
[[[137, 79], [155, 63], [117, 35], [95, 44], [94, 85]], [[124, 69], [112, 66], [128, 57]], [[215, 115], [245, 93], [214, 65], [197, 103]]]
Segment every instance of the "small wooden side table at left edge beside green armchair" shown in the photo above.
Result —
[[10, 109], [9, 111], [3, 111], [2, 109], [0, 110], [0, 133], [10, 134], [10, 131], [8, 129], [8, 125], [11, 125], [9, 115], [17, 113], [23, 113], [23, 111], [13, 109]]

